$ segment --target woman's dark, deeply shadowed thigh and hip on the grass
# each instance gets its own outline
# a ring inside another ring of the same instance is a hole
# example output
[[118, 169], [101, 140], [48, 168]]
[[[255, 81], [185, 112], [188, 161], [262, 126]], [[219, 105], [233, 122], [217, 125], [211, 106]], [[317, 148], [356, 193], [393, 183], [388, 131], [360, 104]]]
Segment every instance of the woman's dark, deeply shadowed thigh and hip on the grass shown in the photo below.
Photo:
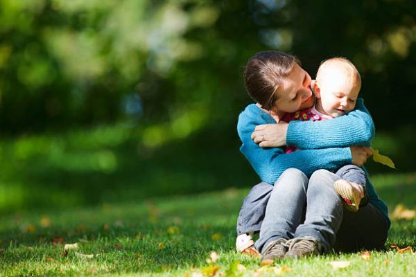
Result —
[[343, 222], [336, 234], [336, 251], [381, 249], [388, 235], [388, 222], [372, 204], [356, 213], [344, 210]]

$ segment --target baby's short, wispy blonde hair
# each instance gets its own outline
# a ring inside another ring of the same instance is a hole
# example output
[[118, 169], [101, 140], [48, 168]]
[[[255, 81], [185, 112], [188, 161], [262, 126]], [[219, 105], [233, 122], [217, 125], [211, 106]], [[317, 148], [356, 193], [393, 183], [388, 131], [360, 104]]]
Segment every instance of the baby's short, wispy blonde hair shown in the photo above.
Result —
[[353, 82], [354, 86], [358, 86], [361, 88], [361, 75], [354, 66], [352, 62], [350, 62], [345, 57], [331, 57], [328, 60], [324, 60], [321, 62], [318, 73], [316, 73], [316, 81], [322, 82], [322, 78], [324, 73], [328, 70], [336, 69], [341, 71], [345, 76], [346, 80], [349, 82]]

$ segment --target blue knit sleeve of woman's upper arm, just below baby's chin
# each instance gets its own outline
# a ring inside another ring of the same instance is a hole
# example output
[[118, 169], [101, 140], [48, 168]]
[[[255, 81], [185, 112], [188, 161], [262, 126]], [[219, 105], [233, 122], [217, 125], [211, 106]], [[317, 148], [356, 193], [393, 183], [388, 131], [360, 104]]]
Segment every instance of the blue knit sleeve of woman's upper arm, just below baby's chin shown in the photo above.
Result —
[[369, 146], [374, 136], [374, 123], [359, 98], [356, 109], [343, 116], [322, 121], [291, 121], [286, 144], [302, 149]]

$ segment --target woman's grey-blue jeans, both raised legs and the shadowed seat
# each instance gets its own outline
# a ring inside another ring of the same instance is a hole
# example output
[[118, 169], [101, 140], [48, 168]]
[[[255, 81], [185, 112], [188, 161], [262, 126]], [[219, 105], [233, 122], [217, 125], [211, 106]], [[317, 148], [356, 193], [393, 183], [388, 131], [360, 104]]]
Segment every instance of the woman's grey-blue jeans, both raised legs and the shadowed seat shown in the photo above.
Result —
[[[245, 202], [237, 229], [247, 230], [244, 233], [260, 229], [260, 237], [255, 244], [259, 251], [278, 238], [303, 236], [316, 238], [324, 252], [333, 248], [354, 251], [382, 247], [387, 239], [387, 220], [372, 204], [360, 208], [357, 213], [345, 210], [333, 188], [337, 179], [340, 179], [338, 175], [327, 170], [314, 172], [310, 179], [300, 170], [286, 170], [275, 186], [261, 183], [250, 191], [252, 200], [257, 195], [254, 204], [266, 199], [266, 211], [254, 208], [246, 213]], [[245, 225], [243, 220], [250, 213], [257, 218], [257, 225]]]

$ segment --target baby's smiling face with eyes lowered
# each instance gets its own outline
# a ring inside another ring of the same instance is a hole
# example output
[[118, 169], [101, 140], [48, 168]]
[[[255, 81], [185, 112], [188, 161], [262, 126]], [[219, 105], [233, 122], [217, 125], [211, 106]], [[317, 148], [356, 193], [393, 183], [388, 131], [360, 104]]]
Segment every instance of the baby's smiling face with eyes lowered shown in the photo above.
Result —
[[356, 105], [360, 86], [338, 72], [326, 74], [318, 84], [320, 112], [332, 117], [352, 111]]

